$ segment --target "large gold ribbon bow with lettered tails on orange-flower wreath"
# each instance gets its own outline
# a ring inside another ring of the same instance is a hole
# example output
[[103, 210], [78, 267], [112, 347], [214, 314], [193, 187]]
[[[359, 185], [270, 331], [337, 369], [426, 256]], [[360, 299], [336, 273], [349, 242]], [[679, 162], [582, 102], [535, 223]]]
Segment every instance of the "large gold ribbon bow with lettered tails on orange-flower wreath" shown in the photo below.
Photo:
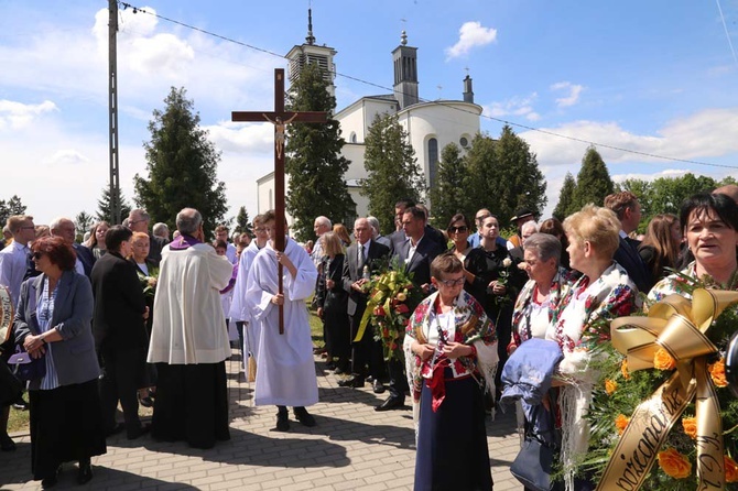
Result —
[[676, 372], [633, 412], [598, 491], [638, 490], [672, 426], [695, 396], [697, 489], [725, 489], [723, 422], [706, 362], [717, 347], [705, 334], [737, 301], [738, 292], [695, 290], [692, 302], [670, 295], [652, 306], [648, 317], [620, 317], [610, 323], [612, 346], [628, 357], [629, 370], [653, 368], [653, 356], [663, 348], [676, 361]]

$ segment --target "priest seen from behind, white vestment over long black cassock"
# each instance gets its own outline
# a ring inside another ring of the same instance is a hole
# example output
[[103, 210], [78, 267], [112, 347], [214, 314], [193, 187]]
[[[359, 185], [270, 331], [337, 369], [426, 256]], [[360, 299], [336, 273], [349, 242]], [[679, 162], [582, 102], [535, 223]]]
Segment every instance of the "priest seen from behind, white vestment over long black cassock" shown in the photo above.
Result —
[[177, 214], [180, 236], [162, 251], [149, 363], [159, 380], [151, 435], [211, 448], [230, 438], [226, 363], [230, 342], [220, 291], [234, 265], [203, 243], [203, 217]]

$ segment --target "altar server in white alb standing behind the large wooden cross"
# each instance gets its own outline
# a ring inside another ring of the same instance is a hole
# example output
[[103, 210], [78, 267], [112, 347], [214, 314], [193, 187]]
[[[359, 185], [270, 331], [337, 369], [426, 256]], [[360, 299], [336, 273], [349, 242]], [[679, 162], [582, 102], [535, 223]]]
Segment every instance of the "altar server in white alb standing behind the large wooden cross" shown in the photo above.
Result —
[[[246, 294], [252, 318], [261, 324], [254, 403], [276, 405], [275, 429], [286, 432], [286, 406], [294, 407], [294, 415], [303, 425], [315, 425], [305, 410], [317, 403], [305, 298], [313, 294], [317, 270], [307, 252], [289, 237], [284, 252], [274, 250], [274, 211], [264, 214], [263, 226], [270, 240], [251, 264]], [[283, 266], [283, 294], [278, 293], [278, 262]], [[279, 328], [279, 305], [284, 307], [284, 334]]]

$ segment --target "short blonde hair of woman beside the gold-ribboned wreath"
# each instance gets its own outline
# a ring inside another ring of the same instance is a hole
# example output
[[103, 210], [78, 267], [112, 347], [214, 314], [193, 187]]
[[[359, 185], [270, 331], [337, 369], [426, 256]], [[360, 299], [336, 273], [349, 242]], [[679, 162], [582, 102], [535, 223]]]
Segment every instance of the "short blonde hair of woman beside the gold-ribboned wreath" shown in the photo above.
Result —
[[587, 205], [564, 220], [564, 231], [579, 242], [589, 242], [597, 255], [612, 258], [620, 246], [620, 220], [608, 208]]

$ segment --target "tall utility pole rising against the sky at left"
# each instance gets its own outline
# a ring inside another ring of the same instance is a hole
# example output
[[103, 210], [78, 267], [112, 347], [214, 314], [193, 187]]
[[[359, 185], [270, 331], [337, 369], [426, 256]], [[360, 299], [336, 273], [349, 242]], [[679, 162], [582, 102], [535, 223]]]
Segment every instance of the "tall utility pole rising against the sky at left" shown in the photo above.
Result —
[[120, 223], [120, 173], [118, 171], [118, 0], [108, 0], [108, 89], [110, 110], [110, 223]]

